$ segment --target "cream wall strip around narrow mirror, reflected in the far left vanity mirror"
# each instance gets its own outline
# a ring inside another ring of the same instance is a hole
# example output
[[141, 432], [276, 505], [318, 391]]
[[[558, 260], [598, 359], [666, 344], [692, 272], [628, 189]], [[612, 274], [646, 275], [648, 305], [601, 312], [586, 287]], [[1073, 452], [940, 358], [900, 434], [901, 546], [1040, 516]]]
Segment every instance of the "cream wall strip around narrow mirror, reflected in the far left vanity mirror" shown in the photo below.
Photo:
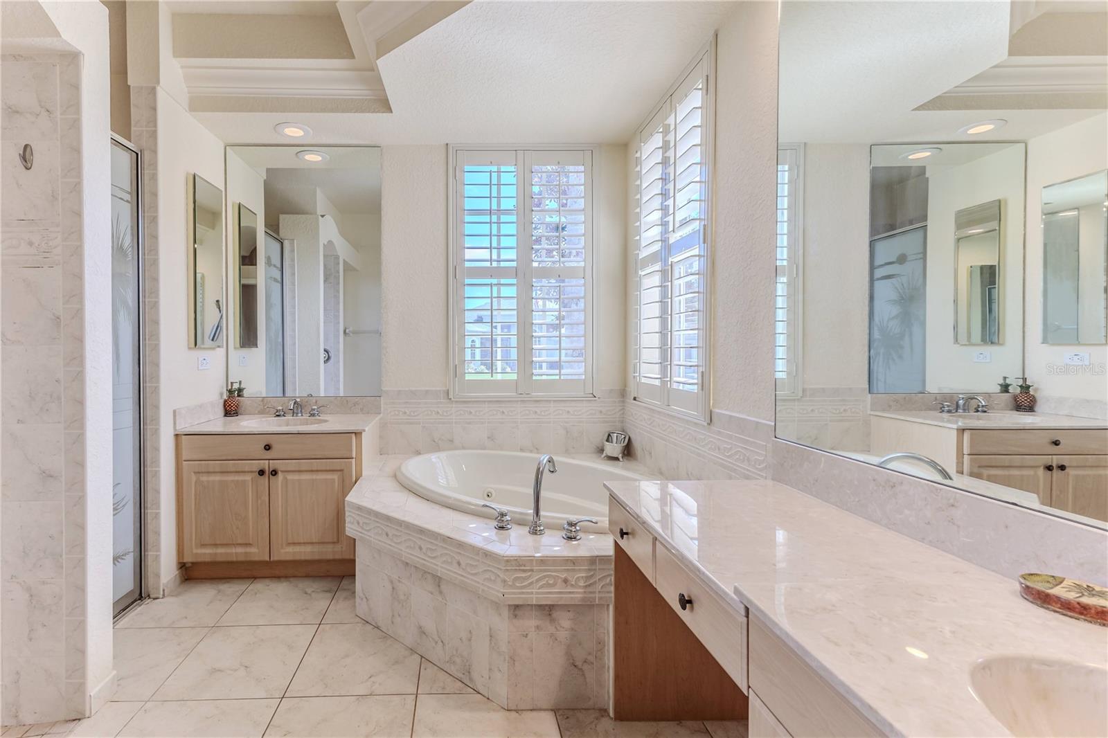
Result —
[[[265, 285], [265, 217], [266, 217], [266, 181], [257, 170], [249, 166], [232, 150], [227, 150], [227, 206], [229, 213], [224, 218], [227, 222], [227, 315], [232, 317], [225, 326], [227, 346], [229, 347], [230, 370], [228, 377], [239, 380], [249, 396], [266, 393], [266, 285]], [[238, 238], [238, 205], [242, 203], [258, 216], [258, 346], [257, 348], [237, 348], [238, 344], [238, 288], [235, 284], [238, 257], [235, 244]], [[239, 357], [245, 357], [246, 366], [240, 366]]]

